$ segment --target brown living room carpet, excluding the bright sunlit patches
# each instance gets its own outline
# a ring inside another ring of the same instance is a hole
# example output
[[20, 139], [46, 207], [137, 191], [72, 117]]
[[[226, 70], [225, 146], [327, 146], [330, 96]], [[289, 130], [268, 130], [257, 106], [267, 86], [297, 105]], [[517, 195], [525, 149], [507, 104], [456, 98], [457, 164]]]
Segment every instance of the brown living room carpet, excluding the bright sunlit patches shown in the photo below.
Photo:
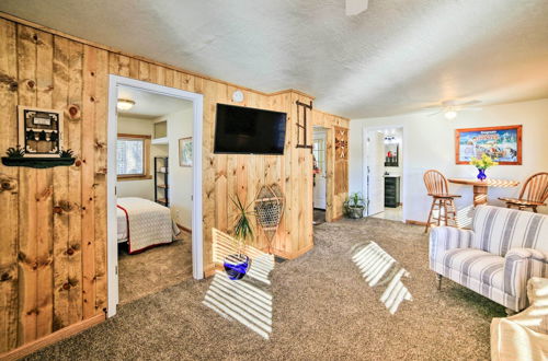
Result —
[[[202, 304], [210, 280], [187, 280], [119, 307], [118, 315], [30, 359], [483, 360], [502, 306], [445, 281], [435, 287], [421, 226], [380, 219], [315, 228], [316, 247], [272, 272], [270, 340]], [[413, 301], [391, 315], [351, 260], [374, 241], [401, 263]]]

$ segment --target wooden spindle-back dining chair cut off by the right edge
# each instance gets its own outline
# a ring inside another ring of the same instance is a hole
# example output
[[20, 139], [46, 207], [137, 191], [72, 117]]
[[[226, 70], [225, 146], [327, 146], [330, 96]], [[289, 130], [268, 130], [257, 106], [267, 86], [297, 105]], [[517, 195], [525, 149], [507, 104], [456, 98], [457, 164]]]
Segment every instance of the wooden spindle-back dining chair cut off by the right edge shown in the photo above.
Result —
[[506, 202], [507, 208], [517, 207], [520, 210], [530, 208], [536, 213], [537, 207], [546, 206], [547, 198], [548, 172], [539, 172], [525, 180], [518, 198], [501, 197], [499, 199]]

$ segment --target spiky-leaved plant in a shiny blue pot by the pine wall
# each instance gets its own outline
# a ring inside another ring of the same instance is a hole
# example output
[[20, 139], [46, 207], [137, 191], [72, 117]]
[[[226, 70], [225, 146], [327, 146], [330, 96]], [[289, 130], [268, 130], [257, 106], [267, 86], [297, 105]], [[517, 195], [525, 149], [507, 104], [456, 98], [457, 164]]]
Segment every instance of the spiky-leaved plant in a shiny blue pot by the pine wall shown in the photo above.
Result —
[[250, 259], [243, 254], [243, 248], [246, 247], [248, 241], [253, 242], [253, 228], [251, 226], [250, 220], [253, 212], [249, 210], [253, 202], [244, 206], [238, 196], [236, 196], [236, 199], [232, 198], [231, 200], [238, 210], [235, 220], [233, 233], [238, 253], [225, 257], [224, 267], [228, 278], [231, 280], [239, 280], [246, 276], [250, 266]]

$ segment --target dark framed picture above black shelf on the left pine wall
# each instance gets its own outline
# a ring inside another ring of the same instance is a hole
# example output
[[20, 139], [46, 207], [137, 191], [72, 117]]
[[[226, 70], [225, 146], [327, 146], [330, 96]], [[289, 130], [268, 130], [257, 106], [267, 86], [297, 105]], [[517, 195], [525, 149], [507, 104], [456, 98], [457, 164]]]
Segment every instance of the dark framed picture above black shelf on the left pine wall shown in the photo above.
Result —
[[27, 158], [59, 158], [62, 150], [62, 112], [18, 106], [19, 144]]

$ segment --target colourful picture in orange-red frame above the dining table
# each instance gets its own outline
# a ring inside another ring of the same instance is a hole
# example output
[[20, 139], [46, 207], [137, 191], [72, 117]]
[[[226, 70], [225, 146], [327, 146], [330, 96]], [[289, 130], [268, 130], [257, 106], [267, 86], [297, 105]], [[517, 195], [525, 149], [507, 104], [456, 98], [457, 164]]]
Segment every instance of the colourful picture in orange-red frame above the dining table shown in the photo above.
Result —
[[455, 130], [456, 164], [468, 164], [482, 154], [501, 165], [522, 164], [522, 126]]

